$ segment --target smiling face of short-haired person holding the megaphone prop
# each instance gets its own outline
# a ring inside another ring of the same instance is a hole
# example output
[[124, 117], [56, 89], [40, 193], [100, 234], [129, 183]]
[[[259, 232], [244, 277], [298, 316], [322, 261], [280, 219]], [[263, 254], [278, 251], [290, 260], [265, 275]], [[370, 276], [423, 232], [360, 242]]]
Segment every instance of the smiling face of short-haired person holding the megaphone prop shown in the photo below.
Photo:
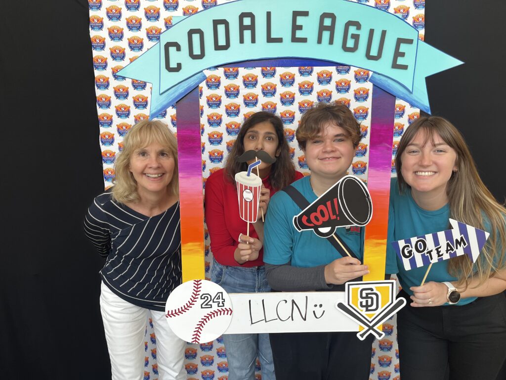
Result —
[[343, 128], [326, 122], [321, 135], [306, 141], [304, 153], [312, 180], [331, 179], [335, 182], [345, 176], [355, 156], [355, 147]]

